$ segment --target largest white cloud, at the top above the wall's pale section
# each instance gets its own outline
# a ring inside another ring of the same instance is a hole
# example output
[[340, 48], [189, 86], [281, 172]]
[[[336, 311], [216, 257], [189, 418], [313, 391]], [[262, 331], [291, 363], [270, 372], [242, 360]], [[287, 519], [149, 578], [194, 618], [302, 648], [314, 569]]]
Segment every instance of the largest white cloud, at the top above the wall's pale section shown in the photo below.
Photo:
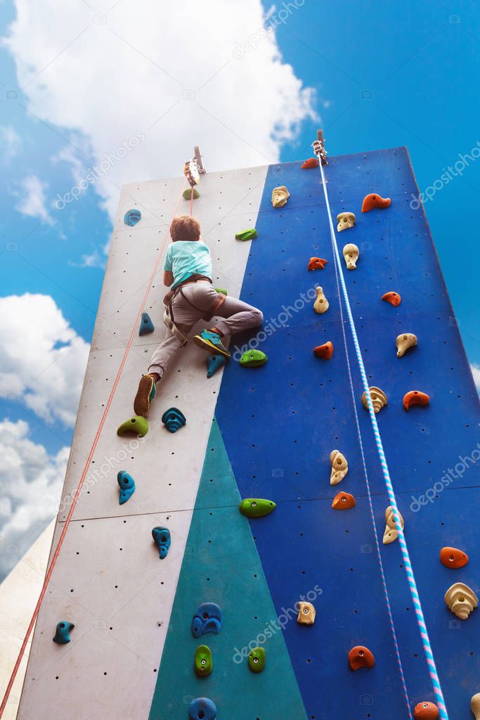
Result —
[[302, 4], [273, 9], [267, 32], [261, 0], [144, 0], [135, 10], [15, 0], [4, 44], [30, 111], [74, 145], [78, 135], [88, 142], [88, 157], [71, 155], [75, 176], [145, 133], [94, 184], [112, 217], [119, 186], [179, 176], [193, 145], [207, 170], [279, 161], [281, 144], [314, 117], [313, 91], [282, 60], [274, 30]]

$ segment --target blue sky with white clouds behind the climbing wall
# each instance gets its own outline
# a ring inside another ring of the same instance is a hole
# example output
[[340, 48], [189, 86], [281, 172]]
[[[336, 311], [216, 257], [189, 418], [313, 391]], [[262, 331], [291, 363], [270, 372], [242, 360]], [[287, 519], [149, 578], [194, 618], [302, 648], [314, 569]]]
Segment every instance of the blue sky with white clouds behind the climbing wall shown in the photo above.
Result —
[[[441, 179], [479, 147], [480, 1], [149, 3], [148, 22], [130, 0], [0, 4], [0, 573], [54, 515], [33, 508], [63, 481], [119, 186], [181, 174], [194, 143], [212, 170], [303, 159], [317, 127], [334, 155], [407, 145], [480, 366], [480, 162]], [[137, 132], [143, 147], [55, 207]]]

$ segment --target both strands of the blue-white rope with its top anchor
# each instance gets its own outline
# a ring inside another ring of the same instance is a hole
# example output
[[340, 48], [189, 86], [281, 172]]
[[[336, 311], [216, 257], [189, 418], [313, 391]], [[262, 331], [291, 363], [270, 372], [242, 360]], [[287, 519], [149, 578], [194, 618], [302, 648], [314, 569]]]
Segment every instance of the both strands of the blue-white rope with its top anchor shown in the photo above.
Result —
[[[386, 605], [387, 605], [387, 611], [389, 613], [389, 622], [390, 622], [392, 634], [394, 636], [395, 650], [396, 650], [396, 654], [397, 654], [397, 660], [399, 662], [400, 676], [402, 679], [404, 694], [405, 694], [405, 698], [406, 698], [407, 704], [408, 704], [409, 716], [410, 717], [412, 716], [412, 710], [411, 710], [411, 705], [410, 705], [409, 698], [408, 698], [407, 685], [405, 683], [404, 672], [403, 672], [403, 667], [402, 667], [402, 660], [401, 660], [400, 654], [399, 654], [397, 634], [396, 634], [395, 628], [394, 628], [393, 616], [391, 615], [391, 606], [390, 606], [390, 601], [389, 601], [388, 590], [386, 587], [386, 580], [385, 580], [385, 575], [384, 575], [383, 564], [381, 562], [381, 552], [380, 552], [379, 540], [378, 540], [378, 537], [376, 534], [375, 516], [373, 513], [371, 491], [370, 491], [370, 487], [368, 484], [368, 473], [367, 473], [367, 469], [366, 469], [366, 460], [365, 460], [365, 454], [363, 451], [363, 443], [362, 443], [362, 439], [361, 439], [360, 424], [358, 422], [358, 415], [357, 415], [357, 410], [356, 410], [355, 391], [353, 388], [353, 378], [352, 378], [351, 369], [350, 369], [350, 360], [349, 360], [349, 356], [348, 356], [347, 339], [345, 336], [345, 328], [344, 328], [344, 323], [343, 323], [343, 310], [342, 310], [342, 300], [340, 297], [340, 285], [342, 288], [343, 301], [345, 302], [345, 309], [346, 309], [347, 315], [348, 315], [348, 322], [350, 325], [351, 335], [352, 335], [352, 339], [353, 339], [353, 345], [354, 345], [355, 351], [356, 351], [358, 367], [359, 367], [359, 370], [361, 373], [362, 384], [363, 384], [364, 390], [366, 392], [368, 413], [369, 413], [370, 419], [371, 419], [373, 435], [375, 436], [376, 448], [377, 448], [380, 462], [381, 462], [381, 469], [382, 469], [382, 473], [384, 475], [386, 491], [389, 496], [389, 502], [390, 502], [392, 513], [394, 516], [395, 526], [396, 526], [397, 532], [398, 532], [399, 544], [400, 544], [400, 549], [402, 551], [404, 567], [405, 567], [405, 571], [407, 572], [407, 580], [408, 580], [408, 584], [409, 584], [409, 589], [410, 589], [410, 593], [412, 595], [413, 604], [415, 606], [417, 623], [420, 628], [420, 636], [422, 638], [422, 645], [423, 645], [425, 657], [427, 660], [427, 666], [428, 666], [428, 670], [430, 673], [430, 679], [432, 681], [435, 698], [437, 701], [438, 709], [440, 711], [440, 718], [442, 720], [448, 720], [448, 712], [447, 712], [447, 708], [445, 706], [445, 699], [443, 697], [443, 691], [442, 691], [442, 688], [440, 685], [440, 678], [438, 677], [438, 672], [437, 672], [437, 668], [435, 665], [435, 659], [433, 657], [433, 651], [432, 651], [432, 647], [430, 644], [430, 638], [429, 638], [428, 632], [427, 632], [427, 626], [425, 625], [425, 617], [423, 615], [422, 605], [420, 603], [420, 595], [417, 590], [417, 583], [415, 582], [415, 575], [413, 573], [412, 562], [410, 561], [407, 543], [404, 539], [402, 521], [400, 519], [401, 516], [400, 516], [399, 508], [397, 505], [397, 498], [395, 497], [394, 487], [391, 483], [389, 467], [386, 462], [384, 446], [381, 441], [379, 426], [377, 424], [375, 412], [373, 410], [373, 403], [371, 401], [370, 393], [368, 392], [368, 379], [367, 379], [366, 369], [365, 369], [365, 365], [363, 363], [363, 356], [361, 354], [360, 345], [358, 343], [356, 325], [355, 325], [355, 321], [353, 320], [352, 310], [350, 307], [350, 300], [348, 299], [347, 287], [345, 285], [345, 277], [343, 276], [343, 269], [342, 269], [342, 265], [340, 263], [340, 253], [338, 251], [337, 240], [335, 238], [335, 230], [333, 227], [332, 211], [330, 210], [330, 201], [329, 201], [328, 192], [327, 192], [327, 182], [325, 179], [325, 171], [322, 167], [324, 164], [327, 164], [327, 157], [326, 157], [326, 151], [325, 151], [325, 140], [323, 139], [321, 130], [319, 130], [319, 132], [317, 133], [317, 140], [314, 143], [312, 143], [312, 147], [314, 148], [314, 153], [319, 160], [320, 174], [321, 174], [321, 178], [322, 178], [322, 188], [323, 188], [323, 193], [325, 196], [325, 204], [327, 207], [328, 224], [329, 224], [329, 228], [330, 228], [330, 239], [332, 242], [332, 251], [333, 251], [333, 256], [334, 256], [334, 261], [335, 261], [335, 263], [334, 263], [335, 264], [335, 279], [337, 282], [338, 298], [339, 298], [339, 304], [340, 304], [340, 319], [341, 319], [343, 341], [345, 344], [345, 354], [346, 354], [347, 367], [348, 367], [348, 379], [350, 382], [350, 390], [352, 393], [353, 409], [354, 409], [354, 414], [355, 414], [355, 419], [356, 419], [356, 427], [357, 427], [358, 437], [360, 440], [363, 471], [364, 471], [365, 477], [366, 477], [368, 503], [370, 505], [371, 517], [372, 517], [372, 521], [373, 521], [373, 535], [375, 537], [376, 548], [377, 548], [377, 552], [379, 555], [381, 579], [382, 579], [382, 584], [384, 586], [384, 593], [386, 596]], [[324, 162], [324, 160], [325, 160], [325, 162]], [[340, 281], [340, 284], [339, 284], [339, 281]]]

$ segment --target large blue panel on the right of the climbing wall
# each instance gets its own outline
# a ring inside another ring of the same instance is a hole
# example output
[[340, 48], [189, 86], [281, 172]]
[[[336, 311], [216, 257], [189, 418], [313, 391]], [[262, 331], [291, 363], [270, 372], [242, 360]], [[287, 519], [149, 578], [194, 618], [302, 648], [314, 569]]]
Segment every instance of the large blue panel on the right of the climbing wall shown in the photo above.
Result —
[[[480, 690], [480, 611], [458, 627], [443, 595], [459, 580], [479, 591], [479, 464], [418, 511], [412, 495], [417, 498], [441, 482], [458, 456], [476, 449], [478, 396], [425, 216], [409, 207], [417, 186], [407, 151], [330, 158], [326, 174], [332, 212], [357, 215], [356, 228], [337, 235], [340, 253], [345, 243], [356, 243], [361, 250], [358, 269], [345, 271], [350, 302], [371, 384], [389, 397], [379, 426], [450, 717], [469, 720], [470, 698]], [[291, 198], [286, 207], [273, 210], [271, 189], [281, 184]], [[391, 197], [391, 207], [362, 214], [368, 192]], [[259, 344], [269, 360], [253, 370], [230, 363], [217, 404], [219, 428], [240, 494], [278, 503], [271, 516], [251, 521], [276, 612], [291, 607], [315, 585], [322, 588], [314, 626], [291, 621], [284, 630], [308, 717], [399, 720], [407, 717], [407, 708], [378, 559], [371, 552], [373, 529], [319, 171], [302, 171], [300, 163], [271, 166], [257, 229], [242, 297], [260, 307], [265, 324], [274, 329]], [[307, 271], [313, 255], [327, 258], [325, 270]], [[330, 301], [325, 315], [316, 315], [312, 302], [295, 309], [295, 301], [314, 284], [322, 285]], [[391, 289], [402, 294], [397, 308], [381, 302]], [[280, 315], [284, 306], [294, 307], [290, 318]], [[349, 332], [347, 328], [348, 338]], [[395, 338], [402, 332], [415, 333], [419, 345], [397, 359]], [[332, 360], [315, 359], [312, 348], [327, 340], [335, 346]], [[239, 347], [246, 341], [235, 338]], [[348, 344], [381, 538], [389, 503], [368, 413], [360, 402], [363, 389], [350, 339]], [[428, 392], [431, 403], [406, 413], [402, 398], [414, 389]], [[348, 457], [349, 473], [340, 487], [332, 488], [329, 455], [334, 448]], [[339, 490], [356, 496], [356, 508], [332, 510]], [[464, 549], [470, 564], [456, 572], [445, 569], [438, 560], [443, 545]], [[382, 546], [381, 552], [410, 699], [433, 700], [398, 543]], [[348, 670], [347, 653], [355, 644], [371, 647], [373, 670]]]

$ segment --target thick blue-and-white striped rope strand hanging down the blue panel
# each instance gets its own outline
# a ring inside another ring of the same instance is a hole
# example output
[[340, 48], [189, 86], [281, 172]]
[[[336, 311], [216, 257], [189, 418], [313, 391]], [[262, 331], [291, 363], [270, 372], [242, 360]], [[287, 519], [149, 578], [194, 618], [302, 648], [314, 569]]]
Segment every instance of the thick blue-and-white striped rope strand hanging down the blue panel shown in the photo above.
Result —
[[[442, 692], [442, 688], [440, 685], [440, 678], [438, 677], [437, 667], [435, 665], [435, 659], [433, 657], [433, 651], [432, 651], [432, 646], [430, 644], [430, 638], [428, 637], [427, 626], [425, 625], [425, 617], [424, 617], [423, 611], [422, 611], [422, 604], [420, 603], [420, 595], [417, 590], [417, 583], [415, 582], [415, 575], [413, 573], [412, 563], [410, 562], [410, 556], [409, 556], [409, 552], [408, 552], [408, 548], [407, 548], [407, 543], [404, 538], [402, 523], [400, 521], [400, 513], [399, 513], [399, 508], [397, 505], [397, 498], [395, 497], [394, 487], [391, 484], [389, 467], [386, 463], [384, 446], [381, 441], [379, 426], [376, 422], [375, 411], [373, 410], [373, 403], [371, 401], [370, 391], [368, 389], [367, 374], [366, 374], [366, 370], [365, 370], [365, 365], [363, 364], [363, 357], [361, 354], [360, 345], [358, 343], [356, 325], [355, 325], [355, 321], [353, 320], [352, 310], [350, 307], [350, 301], [348, 299], [347, 287], [345, 285], [345, 277], [343, 276], [343, 269], [342, 269], [342, 265], [340, 263], [340, 253], [338, 252], [337, 240], [335, 238], [335, 229], [333, 227], [332, 211], [330, 210], [330, 202], [329, 202], [328, 192], [327, 192], [327, 183], [325, 180], [325, 171], [323, 170], [323, 166], [322, 166], [322, 157], [321, 157], [320, 152], [317, 152], [317, 150], [315, 150], [315, 155], [318, 158], [318, 164], [320, 166], [320, 174], [322, 176], [322, 187], [323, 187], [323, 194], [325, 196], [325, 204], [327, 206], [328, 224], [330, 226], [330, 239], [332, 241], [332, 250], [333, 250], [333, 255], [334, 255], [334, 259], [335, 259], [335, 267], [336, 267], [336, 271], [338, 272], [338, 279], [340, 279], [340, 284], [342, 287], [343, 300], [345, 302], [345, 309], [347, 310], [348, 322], [350, 324], [350, 330], [352, 333], [353, 345], [355, 347], [356, 356], [357, 356], [357, 360], [358, 360], [358, 368], [360, 369], [362, 384], [363, 384], [363, 388], [365, 390], [365, 397], [366, 397], [366, 401], [367, 401], [367, 405], [368, 405], [368, 413], [369, 413], [370, 419], [371, 419], [373, 436], [375, 437], [376, 448], [379, 453], [381, 469], [382, 469], [382, 472], [384, 475], [386, 491], [389, 496], [389, 502], [390, 502], [390, 505], [391, 505], [391, 508], [393, 511], [395, 526], [397, 528], [400, 549], [402, 551], [402, 557], [403, 557], [403, 561], [404, 561], [405, 571], [407, 572], [407, 580], [408, 580], [408, 584], [409, 584], [410, 594], [412, 595], [413, 604], [415, 606], [415, 613], [417, 616], [417, 623], [420, 628], [420, 636], [422, 638], [422, 645], [423, 645], [425, 657], [427, 660], [428, 671], [430, 673], [430, 679], [432, 680], [433, 691], [435, 693], [435, 698], [437, 701], [438, 709], [440, 711], [440, 718], [442, 720], [448, 720], [448, 712], [447, 712], [447, 708], [445, 706], [445, 699], [443, 698], [443, 692]], [[340, 300], [340, 294], [339, 294], [339, 300]], [[341, 304], [342, 303], [340, 300], [340, 308], [341, 308]], [[343, 328], [343, 323], [342, 323], [342, 328]], [[344, 335], [344, 337], [345, 337], [345, 335]], [[346, 338], [345, 338], [345, 350], [346, 350], [346, 348], [347, 348], [347, 346], [346, 346]], [[347, 357], [348, 357], [348, 352], [347, 352]], [[349, 372], [349, 381], [350, 381], [350, 390], [352, 391], [352, 395], [353, 395], [353, 405], [354, 405], [354, 407], [356, 407], [355, 391], [353, 389], [353, 379], [351, 377], [350, 372]], [[357, 422], [358, 422], [358, 417], [357, 417]], [[358, 431], [360, 431], [359, 426], [358, 426]], [[364, 462], [364, 457], [363, 457], [363, 462]], [[367, 481], [367, 485], [368, 485], [368, 481]], [[368, 495], [370, 495], [369, 492], [368, 492]], [[370, 502], [371, 502], [371, 498], [370, 498]], [[371, 506], [371, 511], [373, 513], [373, 506]], [[373, 521], [374, 521], [374, 516], [373, 516]], [[375, 531], [375, 536], [376, 536], [376, 531]], [[378, 539], [376, 539], [376, 542], [378, 544]], [[382, 572], [383, 572], [383, 568], [382, 568]], [[387, 590], [387, 595], [388, 595], [388, 590]], [[390, 612], [390, 616], [391, 616], [391, 612]], [[392, 618], [392, 622], [393, 622], [393, 618]], [[403, 672], [402, 672], [402, 675], [403, 675]], [[403, 682], [404, 682], [404, 678], [403, 678]], [[405, 687], [405, 689], [406, 689], [406, 687]], [[408, 697], [408, 693], [407, 693], [407, 697]], [[411, 711], [410, 711], [410, 706], [409, 706], [409, 713], [410, 712]]]

